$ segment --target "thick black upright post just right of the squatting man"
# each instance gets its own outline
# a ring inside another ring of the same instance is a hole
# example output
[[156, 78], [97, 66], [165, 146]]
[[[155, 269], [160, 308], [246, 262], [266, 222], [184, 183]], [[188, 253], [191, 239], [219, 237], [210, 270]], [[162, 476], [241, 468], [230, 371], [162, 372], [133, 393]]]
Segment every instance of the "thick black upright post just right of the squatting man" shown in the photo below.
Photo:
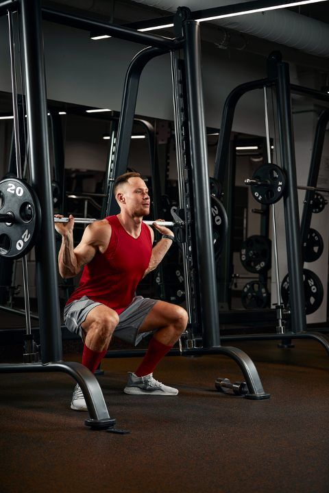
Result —
[[186, 92], [191, 146], [191, 174], [195, 204], [195, 238], [197, 270], [202, 307], [204, 347], [220, 346], [219, 316], [216, 286], [216, 266], [212, 242], [210, 188], [204, 97], [202, 93], [201, 47], [199, 23], [183, 24]]

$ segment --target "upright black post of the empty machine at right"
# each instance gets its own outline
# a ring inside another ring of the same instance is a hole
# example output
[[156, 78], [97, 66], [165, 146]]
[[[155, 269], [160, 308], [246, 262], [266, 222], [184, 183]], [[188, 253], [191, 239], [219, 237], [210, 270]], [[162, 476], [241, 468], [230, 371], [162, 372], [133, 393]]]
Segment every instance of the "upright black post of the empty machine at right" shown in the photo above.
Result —
[[287, 175], [287, 194], [284, 197], [284, 223], [289, 272], [291, 328], [294, 332], [301, 332], [306, 330], [302, 242], [297, 197], [289, 65], [284, 62], [278, 63], [277, 103], [282, 168]]

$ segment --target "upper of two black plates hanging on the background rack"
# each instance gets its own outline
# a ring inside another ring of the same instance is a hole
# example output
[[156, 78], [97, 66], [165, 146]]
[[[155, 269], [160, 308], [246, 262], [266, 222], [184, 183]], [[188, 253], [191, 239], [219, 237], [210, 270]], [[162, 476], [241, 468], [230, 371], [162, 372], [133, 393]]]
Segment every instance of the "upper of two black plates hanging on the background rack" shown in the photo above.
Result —
[[241, 244], [240, 259], [249, 272], [266, 272], [271, 268], [271, 240], [266, 236], [249, 236]]

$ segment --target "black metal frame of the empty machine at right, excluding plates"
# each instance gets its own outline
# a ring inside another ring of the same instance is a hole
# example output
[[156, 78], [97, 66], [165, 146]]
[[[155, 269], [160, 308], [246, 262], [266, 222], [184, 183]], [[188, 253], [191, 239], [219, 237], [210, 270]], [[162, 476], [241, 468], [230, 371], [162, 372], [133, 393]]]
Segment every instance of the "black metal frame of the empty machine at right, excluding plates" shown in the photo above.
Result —
[[[216, 179], [219, 179], [219, 181], [223, 180], [225, 177], [226, 167], [228, 166], [228, 149], [230, 145], [230, 134], [232, 131], [234, 110], [241, 96], [250, 90], [261, 89], [265, 86], [276, 87], [281, 160], [282, 168], [284, 168], [287, 175], [287, 192], [284, 194], [284, 222], [287, 237], [287, 259], [289, 286], [291, 292], [291, 331], [289, 330], [285, 332], [284, 337], [281, 335], [281, 338], [284, 339], [285, 336], [287, 336], [287, 339], [298, 337], [315, 338], [321, 342], [324, 347], [326, 347], [326, 350], [329, 353], [329, 342], [326, 338], [324, 338], [324, 336], [317, 333], [306, 332], [306, 314], [304, 310], [305, 301], [302, 273], [302, 242], [297, 199], [295, 151], [293, 146], [294, 140], [291, 112], [291, 92], [308, 94], [310, 97], [320, 99], [322, 101], [329, 101], [329, 96], [326, 96], [326, 94], [316, 90], [290, 84], [289, 65], [282, 62], [279, 53], [272, 53], [269, 56], [269, 74], [269, 77], [265, 79], [259, 79], [237, 86], [234, 90], [232, 90], [232, 92], [230, 92], [228, 98], [226, 99], [223, 108], [222, 125], [221, 132], [219, 134], [214, 176]], [[317, 147], [317, 149], [315, 149], [315, 156], [318, 166], [322, 150], [321, 138], [324, 137], [323, 126], [325, 125], [324, 122], [326, 121], [326, 118], [328, 118], [327, 112], [324, 113], [325, 116], [323, 117], [323, 121], [321, 121], [321, 131], [319, 131], [320, 136], [317, 134], [317, 140], [315, 141], [315, 145]], [[315, 166], [316, 165], [313, 163], [312, 168]], [[310, 170], [310, 173], [312, 173], [312, 169]], [[312, 184], [315, 179], [314, 176], [312, 175]], [[270, 310], [270, 312], [273, 312], [273, 310]], [[234, 336], [233, 340], [259, 340], [261, 338], [262, 335], [260, 334], [255, 336], [241, 335]], [[263, 334], [263, 338], [277, 339], [278, 334]], [[228, 337], [226, 340], [232, 340], [232, 338]]]

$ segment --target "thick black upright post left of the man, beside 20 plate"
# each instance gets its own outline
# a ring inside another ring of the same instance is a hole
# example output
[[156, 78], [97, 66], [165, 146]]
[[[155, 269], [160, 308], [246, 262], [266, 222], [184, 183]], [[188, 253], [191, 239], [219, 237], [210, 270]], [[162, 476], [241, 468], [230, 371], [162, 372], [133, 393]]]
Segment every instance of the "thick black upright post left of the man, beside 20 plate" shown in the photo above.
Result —
[[62, 340], [40, 0], [21, 0], [21, 14], [31, 177], [42, 210], [40, 239], [36, 244], [41, 360], [48, 363], [62, 359]]

